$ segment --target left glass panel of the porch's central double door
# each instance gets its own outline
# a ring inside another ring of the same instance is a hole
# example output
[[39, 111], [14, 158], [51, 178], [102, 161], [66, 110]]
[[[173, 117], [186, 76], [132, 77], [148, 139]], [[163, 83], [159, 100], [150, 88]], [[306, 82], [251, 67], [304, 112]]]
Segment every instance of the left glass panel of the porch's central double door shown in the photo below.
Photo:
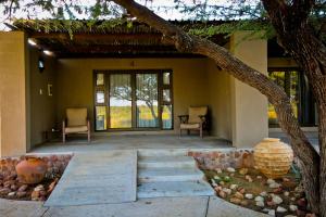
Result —
[[110, 75], [110, 128], [133, 127], [130, 74]]

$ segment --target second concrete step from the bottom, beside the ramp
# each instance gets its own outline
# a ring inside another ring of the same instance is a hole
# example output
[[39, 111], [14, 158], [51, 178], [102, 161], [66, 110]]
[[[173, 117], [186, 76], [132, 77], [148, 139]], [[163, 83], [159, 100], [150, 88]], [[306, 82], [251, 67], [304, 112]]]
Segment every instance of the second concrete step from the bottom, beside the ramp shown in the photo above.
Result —
[[138, 170], [138, 183], [155, 181], [197, 181], [203, 173], [193, 168], [145, 168]]

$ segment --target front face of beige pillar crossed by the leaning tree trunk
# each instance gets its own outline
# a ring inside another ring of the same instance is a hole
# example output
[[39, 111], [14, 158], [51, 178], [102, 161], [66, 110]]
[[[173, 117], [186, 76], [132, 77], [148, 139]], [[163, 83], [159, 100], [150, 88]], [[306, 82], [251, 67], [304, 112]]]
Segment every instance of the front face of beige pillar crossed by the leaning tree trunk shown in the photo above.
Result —
[[[230, 51], [241, 61], [267, 74], [267, 41], [243, 40], [247, 31], [230, 38]], [[237, 148], [253, 146], [268, 136], [267, 99], [258, 90], [231, 78], [233, 144]]]

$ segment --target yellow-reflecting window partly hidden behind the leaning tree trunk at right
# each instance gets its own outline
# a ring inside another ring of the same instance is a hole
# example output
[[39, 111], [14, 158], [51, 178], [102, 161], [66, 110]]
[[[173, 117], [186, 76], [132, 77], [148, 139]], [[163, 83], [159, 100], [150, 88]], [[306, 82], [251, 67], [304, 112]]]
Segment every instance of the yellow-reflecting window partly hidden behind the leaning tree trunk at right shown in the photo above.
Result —
[[[315, 125], [315, 110], [312, 93], [303, 73], [296, 69], [269, 69], [269, 78], [279, 85], [290, 98], [290, 103], [302, 126]], [[268, 104], [269, 127], [278, 127], [274, 106]]]

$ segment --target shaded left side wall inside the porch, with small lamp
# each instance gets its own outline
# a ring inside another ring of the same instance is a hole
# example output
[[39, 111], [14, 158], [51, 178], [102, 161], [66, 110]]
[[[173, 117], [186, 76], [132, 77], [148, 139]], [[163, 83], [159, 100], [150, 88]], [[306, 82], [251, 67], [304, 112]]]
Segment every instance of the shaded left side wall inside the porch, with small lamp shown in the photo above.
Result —
[[[29, 46], [30, 73], [30, 144], [32, 146], [45, 142], [45, 131], [55, 126], [55, 91], [48, 94], [48, 85], [55, 88], [55, 63], [52, 56], [45, 55], [35, 47]], [[40, 73], [38, 60], [45, 61], [45, 71]]]

